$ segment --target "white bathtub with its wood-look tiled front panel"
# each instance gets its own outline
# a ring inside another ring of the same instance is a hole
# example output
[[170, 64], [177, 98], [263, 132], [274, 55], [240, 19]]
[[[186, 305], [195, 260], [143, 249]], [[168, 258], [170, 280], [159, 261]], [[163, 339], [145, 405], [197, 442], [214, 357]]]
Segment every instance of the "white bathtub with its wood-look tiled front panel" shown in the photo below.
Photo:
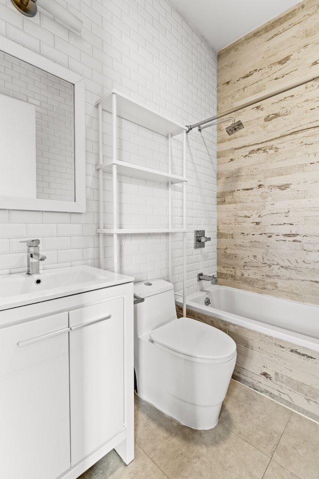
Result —
[[319, 423], [319, 306], [216, 285], [186, 307], [236, 342], [233, 379]]

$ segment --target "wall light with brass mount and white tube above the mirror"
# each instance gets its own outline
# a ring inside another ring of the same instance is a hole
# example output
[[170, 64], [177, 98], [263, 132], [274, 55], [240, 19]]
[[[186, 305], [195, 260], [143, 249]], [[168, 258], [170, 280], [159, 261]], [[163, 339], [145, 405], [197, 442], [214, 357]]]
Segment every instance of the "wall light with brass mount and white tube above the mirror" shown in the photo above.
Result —
[[22, 15], [35, 16], [39, 6], [79, 33], [83, 28], [82, 20], [54, 0], [11, 0], [11, 2]]

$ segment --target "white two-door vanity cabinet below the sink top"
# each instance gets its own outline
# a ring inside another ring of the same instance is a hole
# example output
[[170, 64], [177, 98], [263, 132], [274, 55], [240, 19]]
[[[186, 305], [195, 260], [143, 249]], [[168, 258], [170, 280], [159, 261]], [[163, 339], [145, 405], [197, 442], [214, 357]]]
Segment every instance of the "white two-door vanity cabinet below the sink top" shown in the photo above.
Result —
[[76, 479], [112, 449], [134, 459], [133, 282], [0, 311], [3, 477]]

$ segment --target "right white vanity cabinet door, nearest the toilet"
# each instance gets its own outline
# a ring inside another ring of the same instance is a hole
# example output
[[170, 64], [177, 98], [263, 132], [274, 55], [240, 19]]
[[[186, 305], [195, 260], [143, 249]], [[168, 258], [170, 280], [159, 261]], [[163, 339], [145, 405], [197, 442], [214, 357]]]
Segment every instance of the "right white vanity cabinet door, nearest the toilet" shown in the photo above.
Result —
[[69, 312], [71, 466], [124, 429], [123, 298]]

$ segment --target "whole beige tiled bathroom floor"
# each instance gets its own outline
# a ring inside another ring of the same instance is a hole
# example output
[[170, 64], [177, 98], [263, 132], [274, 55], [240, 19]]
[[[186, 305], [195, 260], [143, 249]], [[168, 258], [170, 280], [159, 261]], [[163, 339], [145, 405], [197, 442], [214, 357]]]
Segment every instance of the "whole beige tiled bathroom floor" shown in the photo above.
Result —
[[319, 479], [319, 424], [233, 380], [209, 431], [136, 396], [135, 441], [129, 466], [111, 451], [80, 479]]

